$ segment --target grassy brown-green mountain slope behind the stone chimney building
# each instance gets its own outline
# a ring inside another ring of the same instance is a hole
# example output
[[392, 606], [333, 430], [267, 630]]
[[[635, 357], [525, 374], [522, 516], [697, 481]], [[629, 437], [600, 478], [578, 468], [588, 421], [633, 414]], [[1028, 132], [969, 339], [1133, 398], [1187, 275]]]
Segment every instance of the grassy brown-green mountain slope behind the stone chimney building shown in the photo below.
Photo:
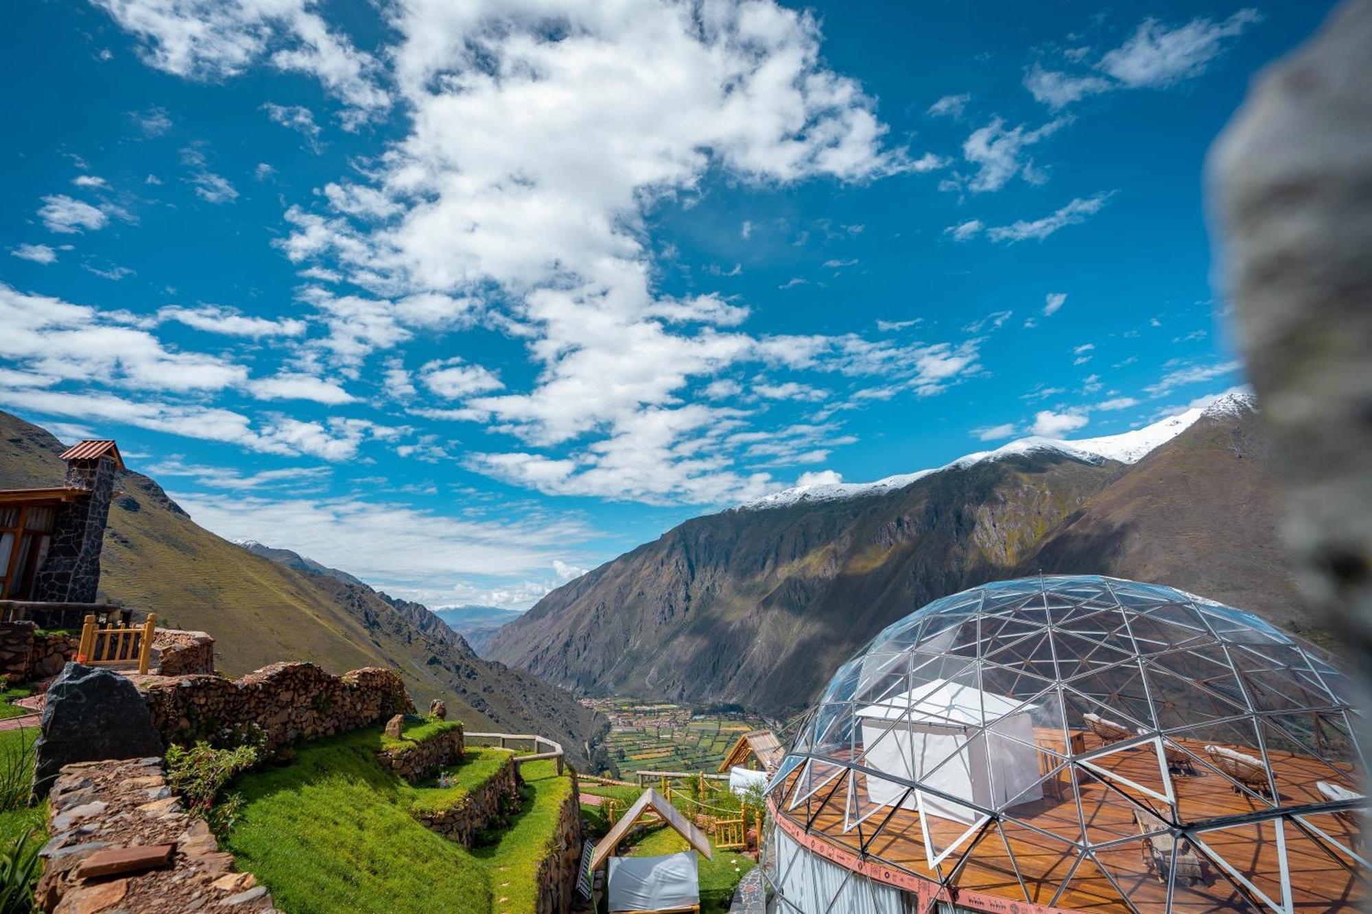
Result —
[[[62, 445], [43, 428], [0, 412], [0, 487], [62, 480]], [[543, 733], [569, 753], [597, 729], [567, 692], [477, 657], [432, 613], [431, 637], [361, 583], [307, 574], [215, 537], [151, 479], [122, 473], [100, 554], [103, 598], [156, 612], [172, 627], [215, 637], [217, 664], [230, 675], [277, 660], [311, 660], [342, 672], [364, 666], [401, 671], [416, 701], [442, 697], [471, 729]], [[294, 554], [294, 553], [292, 553]]]

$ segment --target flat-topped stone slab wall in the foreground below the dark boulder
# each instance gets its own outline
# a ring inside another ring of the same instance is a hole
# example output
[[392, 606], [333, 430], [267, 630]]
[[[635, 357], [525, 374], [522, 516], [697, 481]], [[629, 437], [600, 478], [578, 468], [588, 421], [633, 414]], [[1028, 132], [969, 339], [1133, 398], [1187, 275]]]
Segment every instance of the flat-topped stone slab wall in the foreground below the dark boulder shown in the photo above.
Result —
[[[37, 892], [44, 911], [274, 910], [266, 888], [251, 873], [236, 873], [204, 821], [170, 795], [162, 759], [66, 766], [49, 795], [48, 832]], [[158, 844], [176, 845], [170, 866], [104, 877], [81, 871], [100, 851]]]

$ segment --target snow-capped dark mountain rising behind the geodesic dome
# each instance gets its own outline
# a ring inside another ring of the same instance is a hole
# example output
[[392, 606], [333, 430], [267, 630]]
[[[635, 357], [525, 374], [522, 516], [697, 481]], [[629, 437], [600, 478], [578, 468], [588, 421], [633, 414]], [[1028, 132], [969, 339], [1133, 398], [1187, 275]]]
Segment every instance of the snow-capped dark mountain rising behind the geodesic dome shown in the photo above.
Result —
[[781, 712], [929, 600], [1040, 567], [1298, 618], [1247, 402], [1144, 431], [1030, 439], [903, 484], [792, 490], [696, 517], [547, 594], [490, 656], [594, 694]]

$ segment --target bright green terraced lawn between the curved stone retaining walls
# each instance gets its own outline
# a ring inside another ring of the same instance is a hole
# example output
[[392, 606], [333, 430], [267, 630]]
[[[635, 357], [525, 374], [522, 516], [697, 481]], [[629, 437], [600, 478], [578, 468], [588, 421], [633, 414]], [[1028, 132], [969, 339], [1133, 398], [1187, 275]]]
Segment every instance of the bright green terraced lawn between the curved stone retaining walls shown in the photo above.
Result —
[[[488, 777], [499, 749], [468, 749], [462, 786], [412, 786], [375, 759], [379, 729], [306, 742], [287, 766], [239, 778], [244, 799], [228, 849], [292, 914], [331, 911], [532, 911], [532, 874], [569, 778], [525, 766], [525, 803], [499, 843], [471, 851], [410, 818], [414, 803], [453, 801]], [[525, 871], [527, 870], [527, 871]], [[502, 882], [509, 882], [502, 887]], [[498, 893], [495, 893], [498, 892]], [[493, 907], [493, 900], [509, 902]]]

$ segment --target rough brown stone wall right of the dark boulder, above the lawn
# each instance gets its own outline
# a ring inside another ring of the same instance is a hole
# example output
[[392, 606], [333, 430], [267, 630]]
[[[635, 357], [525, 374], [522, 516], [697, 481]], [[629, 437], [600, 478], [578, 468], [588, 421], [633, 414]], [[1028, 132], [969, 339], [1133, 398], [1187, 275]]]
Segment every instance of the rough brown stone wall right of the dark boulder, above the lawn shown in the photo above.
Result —
[[335, 677], [313, 663], [274, 663], [241, 679], [172, 677], [148, 683], [152, 726], [172, 744], [191, 744], [236, 725], [266, 731], [268, 752], [296, 740], [346, 733], [414, 710], [391, 670], [365, 667]]

